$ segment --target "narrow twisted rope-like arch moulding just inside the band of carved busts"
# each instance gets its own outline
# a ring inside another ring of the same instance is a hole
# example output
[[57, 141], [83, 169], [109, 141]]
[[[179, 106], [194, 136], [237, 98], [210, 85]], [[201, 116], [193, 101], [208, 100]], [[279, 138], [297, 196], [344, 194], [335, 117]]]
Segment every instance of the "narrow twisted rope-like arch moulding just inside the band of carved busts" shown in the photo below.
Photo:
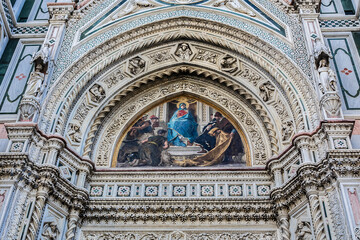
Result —
[[[242, 99], [241, 101], [246, 102], [248, 104], [248, 107], [252, 108], [252, 111], [256, 112], [256, 114], [261, 118], [263, 127], [266, 129], [267, 132], [267, 138], [269, 138], [271, 143], [270, 148], [272, 154], [276, 154], [278, 152], [279, 136], [277, 134], [277, 130], [274, 127], [273, 117], [268, 114], [267, 110], [256, 97], [252, 96], [249, 91], [247, 91], [243, 86], [241, 86], [241, 84], [239, 84], [235, 80], [225, 78], [205, 68], [180, 64], [171, 68], [167, 68], [166, 70], [154, 72], [147, 75], [146, 77], [136, 79], [132, 81], [131, 84], [128, 84], [126, 87], [123, 87], [121, 90], [119, 90], [119, 92], [114, 97], [112, 97], [108, 104], [102, 107], [101, 110], [99, 110], [99, 112], [96, 114], [96, 117], [92, 120], [91, 127], [89, 128], [88, 134], [86, 136], [83, 155], [89, 156], [89, 154], [94, 151], [93, 140], [97, 137], [100, 137], [98, 135], [98, 129], [101, 124], [103, 124], [103, 119], [107, 117], [108, 113], [113, 111], [114, 107], [116, 107], [118, 104], [120, 104], [120, 102], [123, 101], [124, 97], [126, 97], [127, 95], [136, 96], [136, 94], [138, 93], [137, 88], [141, 87], [142, 85], [149, 84], [149, 82], [164, 81], [164, 79], [167, 79], [170, 76], [175, 77], [178, 74], [192, 74], [193, 76], [196, 75], [202, 77], [203, 79], [205, 78], [207, 79], [207, 85], [209, 87], [214, 85], [215, 83], [221, 83], [223, 86], [226, 86], [226, 88], [228, 88], [228, 91], [230, 91], [232, 94], [240, 95], [240, 99]], [[137, 97], [134, 97], [134, 99], [136, 98]], [[226, 100], [226, 102], [224, 102], [223, 104], [225, 105], [223, 106], [223, 108], [229, 107], [227, 106], [229, 104], [228, 100]]]

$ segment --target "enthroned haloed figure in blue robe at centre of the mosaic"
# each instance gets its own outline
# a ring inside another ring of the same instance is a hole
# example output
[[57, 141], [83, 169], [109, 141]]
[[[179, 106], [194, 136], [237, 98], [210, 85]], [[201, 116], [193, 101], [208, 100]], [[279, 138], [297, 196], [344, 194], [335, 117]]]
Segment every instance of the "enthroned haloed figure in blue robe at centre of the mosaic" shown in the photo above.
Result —
[[185, 147], [187, 142], [192, 144], [198, 137], [197, 125], [193, 115], [187, 110], [186, 104], [180, 103], [179, 109], [168, 123], [168, 142], [182, 147]]

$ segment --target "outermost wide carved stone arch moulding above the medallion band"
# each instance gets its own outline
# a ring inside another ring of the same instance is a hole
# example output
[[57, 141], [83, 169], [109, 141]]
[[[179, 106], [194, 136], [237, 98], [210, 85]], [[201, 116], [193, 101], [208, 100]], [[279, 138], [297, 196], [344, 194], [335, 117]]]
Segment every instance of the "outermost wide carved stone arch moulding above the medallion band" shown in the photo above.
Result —
[[[50, 123], [56, 120], [56, 133], [63, 134], [69, 106], [81, 89], [99, 72], [115, 61], [141, 50], [176, 39], [193, 39], [210, 43], [251, 59], [264, 68], [282, 86], [297, 114], [296, 125], [305, 128], [303, 111], [308, 113], [313, 128], [317, 121], [316, 94], [309, 80], [284, 54], [247, 33], [218, 23], [198, 19], [178, 18], [149, 24], [122, 34], [89, 52], [72, 64], [49, 91], [43, 108], [40, 127], [49, 132]], [[234, 41], [235, 40], [235, 41]], [[303, 103], [303, 109], [301, 104]], [[56, 109], [60, 109], [57, 114]], [[303, 110], [303, 111], [302, 111]]]

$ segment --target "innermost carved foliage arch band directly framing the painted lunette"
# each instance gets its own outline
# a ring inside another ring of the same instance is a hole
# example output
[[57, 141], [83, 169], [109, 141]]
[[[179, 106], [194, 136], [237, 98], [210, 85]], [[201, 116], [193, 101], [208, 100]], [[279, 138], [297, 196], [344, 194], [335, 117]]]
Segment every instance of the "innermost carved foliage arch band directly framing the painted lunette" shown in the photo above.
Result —
[[[258, 118], [254, 119], [254, 116], [257, 114], [249, 114], [240, 104], [240, 99], [231, 96], [229, 92], [221, 91], [220, 87], [214, 88], [206, 83], [201, 83], [200, 80], [175, 79], [171, 81], [166, 79], [164, 82], [161, 85], [147, 88], [145, 93], [138, 93], [136, 96], [130, 96], [129, 100], [123, 100], [122, 104], [119, 105], [119, 111], [113, 110], [112, 112], [116, 113], [107, 116], [107, 119], [110, 120], [105, 119], [103, 121], [102, 126], [106, 126], [106, 128], [98, 130], [101, 138], [96, 144], [98, 147], [94, 157], [97, 166], [106, 167], [109, 165], [110, 154], [114, 151], [117, 137], [125, 131], [128, 127], [127, 125], [139, 113], [156, 104], [159, 99], [166, 99], [183, 93], [192, 94], [209, 102], [216, 103], [217, 106], [231, 114], [241, 125], [241, 128], [247, 130], [246, 134], [252, 150], [252, 153], [248, 154], [252, 154], [253, 164], [265, 164], [267, 158], [273, 153], [267, 151], [269, 148], [266, 146], [270, 145], [270, 141], [266, 136], [266, 130], [261, 123], [259, 124], [259, 122], [262, 122], [261, 120]], [[97, 119], [96, 121], [100, 120]]]

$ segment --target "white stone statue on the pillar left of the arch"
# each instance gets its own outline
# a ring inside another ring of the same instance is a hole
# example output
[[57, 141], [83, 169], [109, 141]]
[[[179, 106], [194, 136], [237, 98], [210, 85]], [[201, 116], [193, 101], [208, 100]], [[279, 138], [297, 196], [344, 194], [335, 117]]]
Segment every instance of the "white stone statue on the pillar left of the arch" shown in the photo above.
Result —
[[35, 71], [30, 74], [27, 88], [24, 94], [26, 97], [40, 98], [44, 92], [46, 85], [43, 84], [45, 74], [42, 72], [42, 70], [43, 66], [41, 64], [37, 64], [35, 66]]

